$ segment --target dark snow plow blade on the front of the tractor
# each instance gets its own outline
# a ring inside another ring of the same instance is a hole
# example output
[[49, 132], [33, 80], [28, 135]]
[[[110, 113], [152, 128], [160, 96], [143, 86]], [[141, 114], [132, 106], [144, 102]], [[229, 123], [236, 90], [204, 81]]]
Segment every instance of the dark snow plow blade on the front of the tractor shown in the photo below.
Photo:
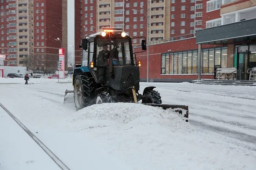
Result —
[[182, 115], [183, 120], [185, 120], [186, 122], [189, 121], [189, 107], [187, 105], [146, 104], [146, 103], [143, 105], [162, 107], [164, 110], [171, 108], [173, 109], [173, 111], [178, 112], [179, 115]]

